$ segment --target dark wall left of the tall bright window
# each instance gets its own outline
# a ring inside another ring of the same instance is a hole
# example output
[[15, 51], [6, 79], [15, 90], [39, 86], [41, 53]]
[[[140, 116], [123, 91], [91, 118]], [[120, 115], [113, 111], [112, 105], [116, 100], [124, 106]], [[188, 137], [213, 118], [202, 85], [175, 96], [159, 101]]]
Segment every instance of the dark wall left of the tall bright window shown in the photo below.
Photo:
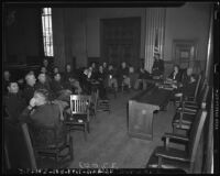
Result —
[[[4, 9], [14, 13], [14, 22], [6, 26], [6, 62], [10, 56], [16, 56], [14, 63], [25, 63], [29, 56], [38, 57], [43, 50], [41, 44], [41, 18], [37, 8]], [[8, 15], [7, 15], [8, 16]], [[6, 20], [7, 20], [6, 16]], [[11, 62], [11, 63], [12, 63]], [[29, 62], [29, 61], [28, 61]]]

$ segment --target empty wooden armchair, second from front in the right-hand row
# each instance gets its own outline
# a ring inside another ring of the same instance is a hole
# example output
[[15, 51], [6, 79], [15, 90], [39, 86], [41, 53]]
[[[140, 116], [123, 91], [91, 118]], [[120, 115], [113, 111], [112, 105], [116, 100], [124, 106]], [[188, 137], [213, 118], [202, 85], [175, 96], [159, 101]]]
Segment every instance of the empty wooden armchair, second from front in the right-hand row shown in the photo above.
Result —
[[200, 101], [200, 107], [191, 110], [183, 108], [180, 111], [176, 112], [172, 122], [173, 133], [177, 133], [177, 129], [190, 130], [191, 123], [194, 122], [194, 119], [196, 117], [196, 113], [198, 113], [198, 110], [199, 109], [206, 110], [207, 108], [208, 94], [209, 94], [209, 86], [206, 86], [205, 91], [201, 96], [202, 98]]

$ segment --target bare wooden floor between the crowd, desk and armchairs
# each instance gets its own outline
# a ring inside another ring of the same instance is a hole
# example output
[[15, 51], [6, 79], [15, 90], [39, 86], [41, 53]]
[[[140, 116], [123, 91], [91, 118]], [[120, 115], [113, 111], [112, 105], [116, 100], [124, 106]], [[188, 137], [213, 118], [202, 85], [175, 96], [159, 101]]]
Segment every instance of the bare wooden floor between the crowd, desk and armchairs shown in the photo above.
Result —
[[158, 111], [153, 120], [153, 141], [130, 138], [127, 128], [127, 103], [140, 91], [119, 92], [110, 97], [111, 113], [98, 112], [91, 119], [87, 141], [84, 133], [73, 131], [74, 161], [62, 164], [66, 168], [144, 168], [152, 152], [163, 145], [162, 135], [172, 132], [174, 106]]

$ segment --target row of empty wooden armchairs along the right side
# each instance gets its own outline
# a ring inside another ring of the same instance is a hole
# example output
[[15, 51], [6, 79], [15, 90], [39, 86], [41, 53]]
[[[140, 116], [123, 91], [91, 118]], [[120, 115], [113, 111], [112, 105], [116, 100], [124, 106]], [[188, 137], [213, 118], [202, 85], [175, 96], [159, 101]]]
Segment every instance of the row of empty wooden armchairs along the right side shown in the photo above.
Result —
[[[210, 92], [211, 88], [200, 76], [194, 97], [182, 100], [180, 106], [176, 108], [172, 122], [173, 133], [164, 134], [162, 138], [164, 146], [157, 146], [154, 150], [147, 162], [147, 168], [175, 168], [185, 173], [195, 173], [198, 145], [209, 111], [207, 105], [210, 103]], [[178, 130], [185, 130], [186, 135], [178, 134]], [[185, 150], [170, 147], [170, 143], [184, 144]]]

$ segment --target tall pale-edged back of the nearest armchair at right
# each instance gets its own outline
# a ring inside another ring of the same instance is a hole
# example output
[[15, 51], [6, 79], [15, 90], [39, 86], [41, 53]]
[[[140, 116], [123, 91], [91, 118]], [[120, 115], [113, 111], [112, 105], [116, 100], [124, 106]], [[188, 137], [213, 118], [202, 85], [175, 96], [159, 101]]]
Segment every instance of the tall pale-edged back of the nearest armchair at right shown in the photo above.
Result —
[[207, 118], [207, 111], [199, 109], [197, 116], [195, 117], [195, 120], [193, 122], [193, 127], [190, 129], [189, 134], [189, 156], [190, 156], [190, 163], [191, 166], [194, 165], [194, 162], [196, 160], [196, 153], [198, 150], [198, 144], [201, 138], [201, 132], [204, 129], [204, 124]]

